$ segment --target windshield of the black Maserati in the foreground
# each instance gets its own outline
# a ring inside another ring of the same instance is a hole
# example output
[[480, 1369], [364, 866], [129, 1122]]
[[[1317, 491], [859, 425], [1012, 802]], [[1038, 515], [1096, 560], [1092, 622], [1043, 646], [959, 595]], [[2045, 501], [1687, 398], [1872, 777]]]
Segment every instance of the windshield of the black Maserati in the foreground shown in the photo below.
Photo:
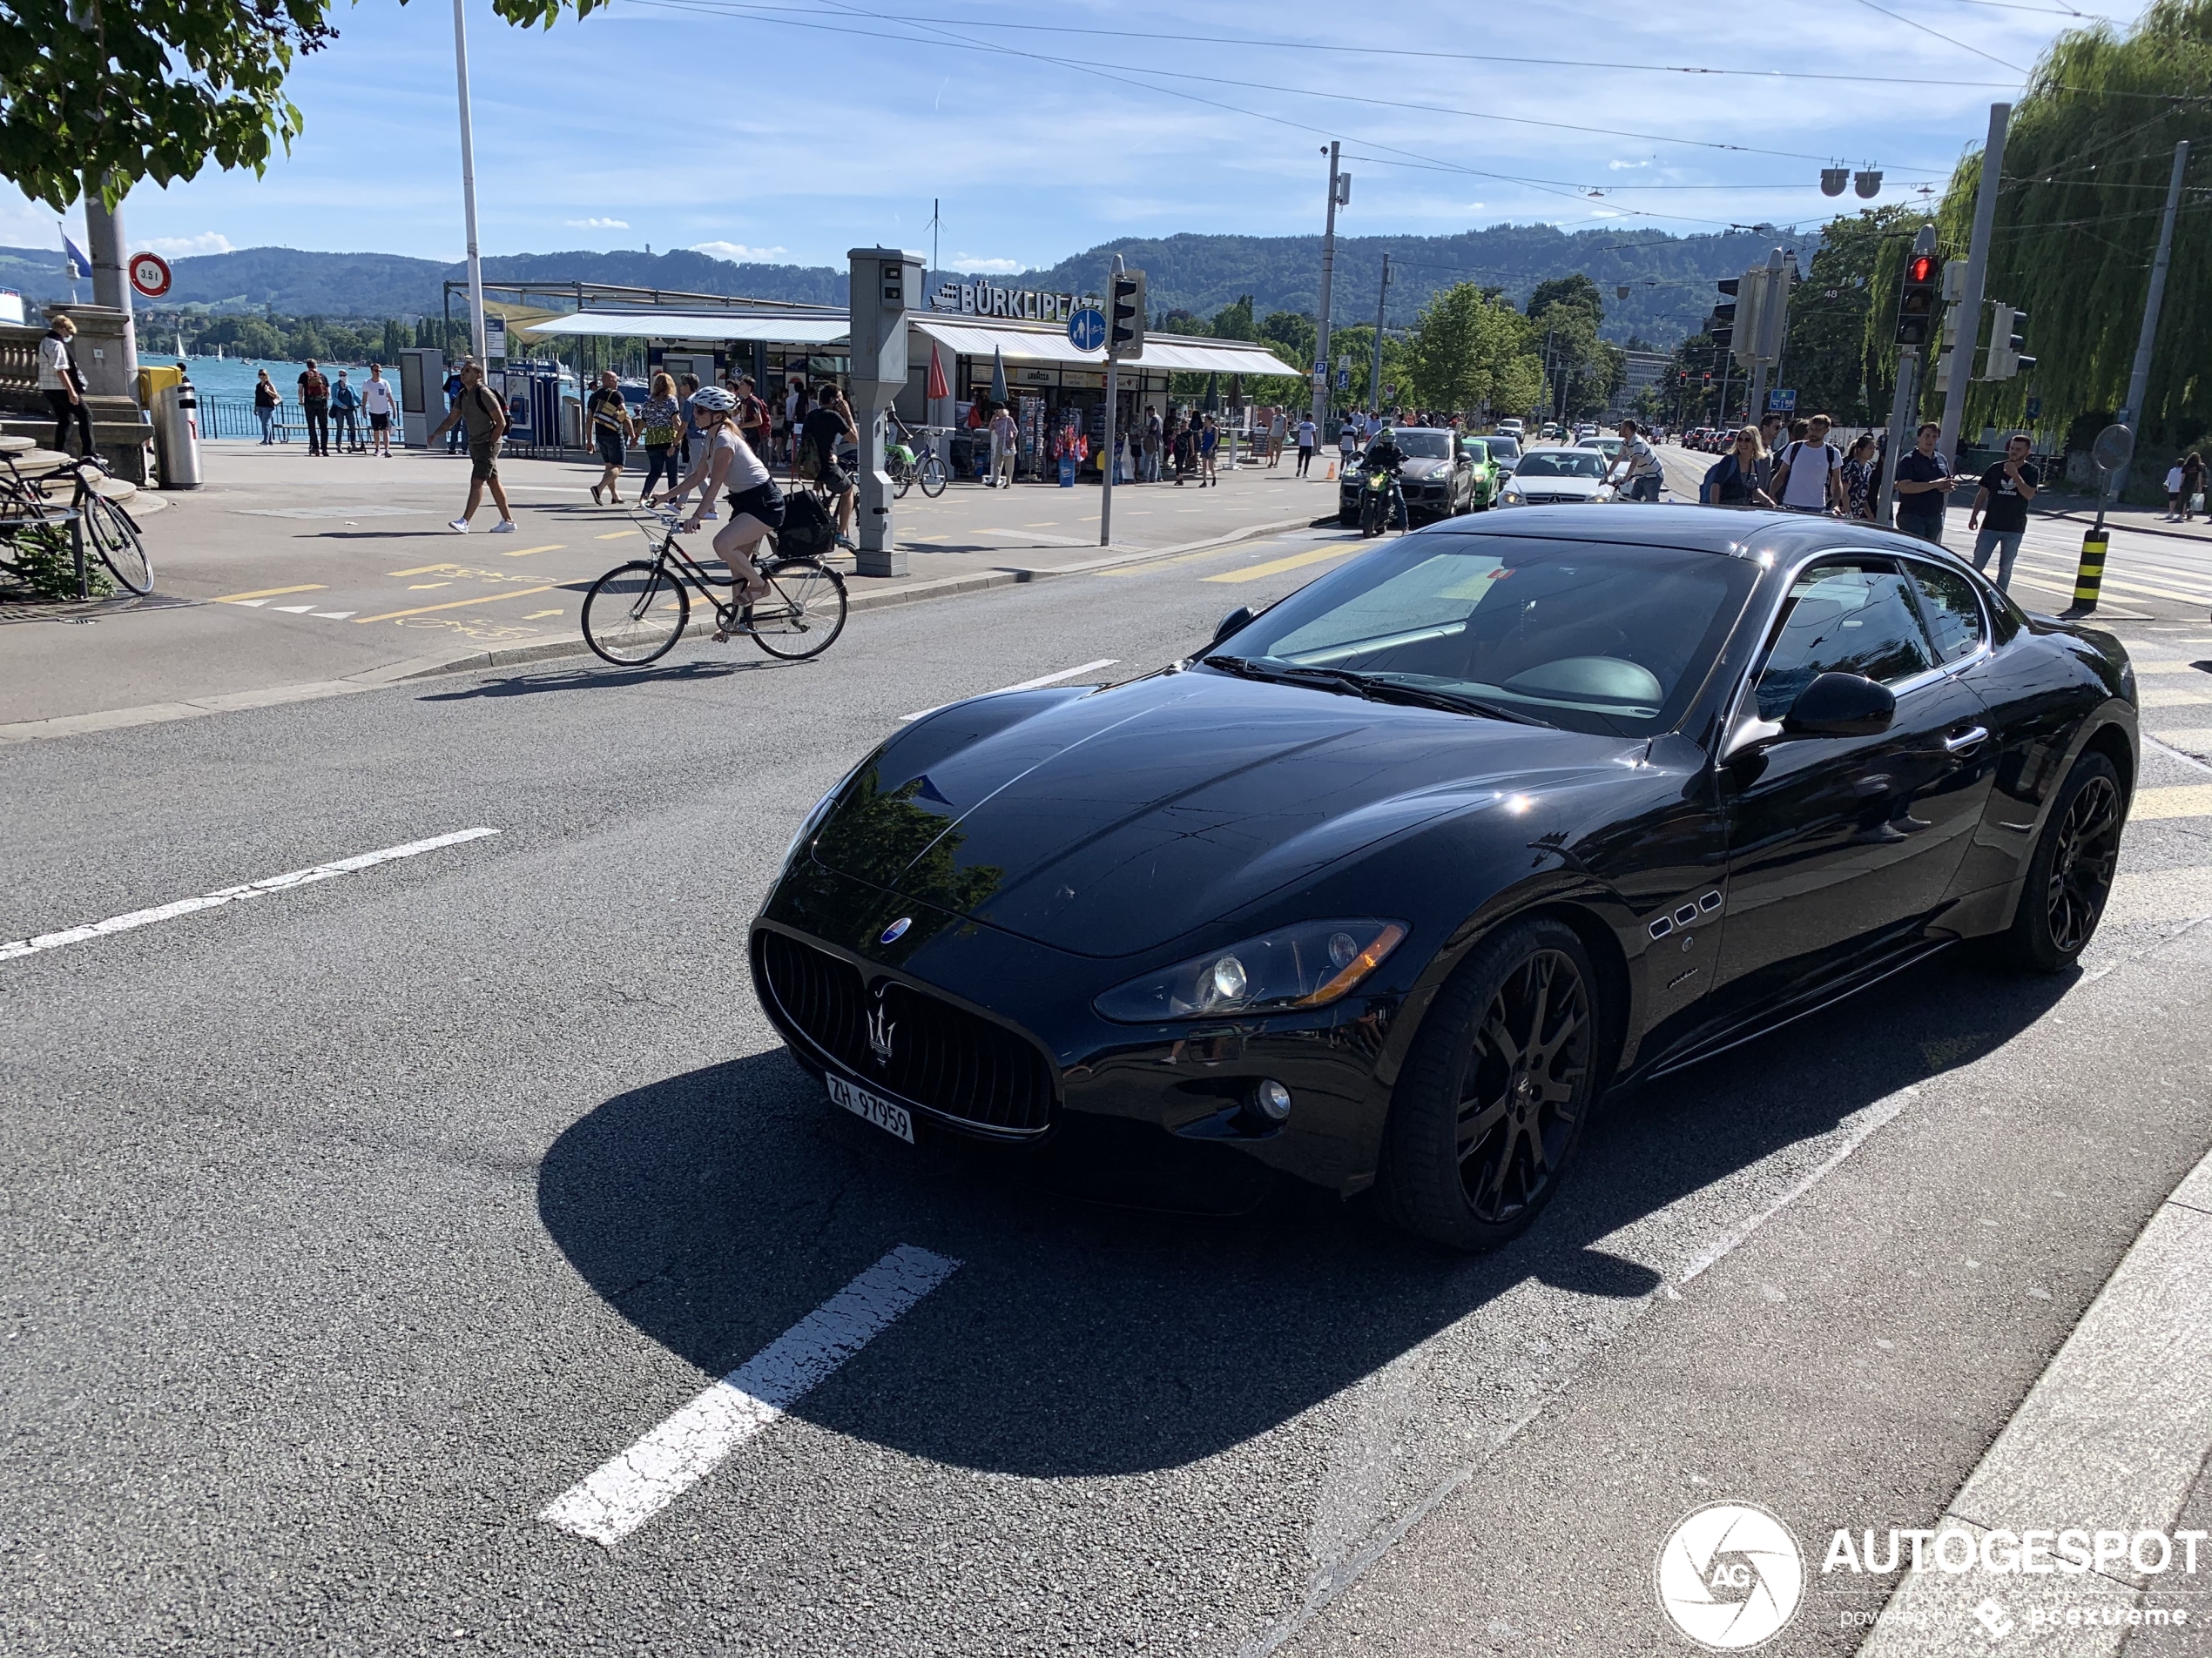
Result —
[[1221, 641], [1228, 672], [1338, 679], [1599, 736], [1668, 730], [1756, 579], [1721, 553], [1409, 535]]

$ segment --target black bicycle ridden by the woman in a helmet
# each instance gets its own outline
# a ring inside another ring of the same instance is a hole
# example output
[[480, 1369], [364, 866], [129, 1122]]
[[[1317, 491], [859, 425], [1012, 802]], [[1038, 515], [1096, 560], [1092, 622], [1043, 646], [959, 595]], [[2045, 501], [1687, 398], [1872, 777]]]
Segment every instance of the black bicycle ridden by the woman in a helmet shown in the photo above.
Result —
[[752, 634], [752, 643], [783, 661], [821, 657], [845, 632], [845, 579], [818, 557], [757, 559], [768, 592], [741, 604], [734, 575], [708, 575], [677, 542], [675, 513], [639, 508], [635, 517], [650, 526], [648, 537], [659, 535], [659, 548], [650, 559], [617, 564], [584, 595], [584, 643], [602, 661], [644, 668], [675, 650], [690, 626], [695, 588], [714, 612], [717, 639]]

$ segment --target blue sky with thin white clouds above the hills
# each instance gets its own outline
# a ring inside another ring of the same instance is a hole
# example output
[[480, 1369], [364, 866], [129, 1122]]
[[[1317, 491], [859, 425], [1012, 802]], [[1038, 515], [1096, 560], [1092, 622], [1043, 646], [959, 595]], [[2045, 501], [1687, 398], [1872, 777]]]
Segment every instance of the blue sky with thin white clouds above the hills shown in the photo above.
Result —
[[[1880, 201], [1940, 186], [2015, 66], [2084, 15], [2135, 11], [615, 0], [520, 31], [467, 4], [487, 254], [843, 263], [863, 243], [927, 252], [938, 197], [942, 263], [978, 272], [1124, 234], [1318, 230], [1332, 137], [1356, 157], [1347, 234], [1816, 223], [1838, 206], [1823, 161], [1882, 168]], [[451, 7], [363, 0], [334, 20], [290, 86], [307, 124], [290, 157], [142, 188], [133, 248], [460, 256]], [[0, 241], [53, 245], [53, 217], [0, 186]]]

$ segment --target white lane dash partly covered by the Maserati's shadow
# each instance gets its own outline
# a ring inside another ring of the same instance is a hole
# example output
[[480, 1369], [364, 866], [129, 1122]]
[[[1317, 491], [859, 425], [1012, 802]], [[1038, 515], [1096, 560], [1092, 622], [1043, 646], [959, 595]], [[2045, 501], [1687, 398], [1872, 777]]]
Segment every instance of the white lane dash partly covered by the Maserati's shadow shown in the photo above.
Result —
[[958, 1267], [958, 1260], [898, 1245], [659, 1428], [555, 1497], [538, 1519], [613, 1547], [774, 1426]]

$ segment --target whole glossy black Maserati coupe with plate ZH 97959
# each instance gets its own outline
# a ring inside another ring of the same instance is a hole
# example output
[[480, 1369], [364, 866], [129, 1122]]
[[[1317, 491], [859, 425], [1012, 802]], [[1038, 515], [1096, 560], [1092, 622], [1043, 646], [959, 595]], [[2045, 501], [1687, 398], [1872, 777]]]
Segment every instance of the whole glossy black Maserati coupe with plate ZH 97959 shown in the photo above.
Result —
[[2066, 968], [2135, 701], [2112, 637], [1871, 526], [1453, 520], [1159, 672], [896, 732], [799, 827], [754, 984], [900, 1138], [1378, 1187], [1486, 1247], [1608, 1088], [1962, 940]]

